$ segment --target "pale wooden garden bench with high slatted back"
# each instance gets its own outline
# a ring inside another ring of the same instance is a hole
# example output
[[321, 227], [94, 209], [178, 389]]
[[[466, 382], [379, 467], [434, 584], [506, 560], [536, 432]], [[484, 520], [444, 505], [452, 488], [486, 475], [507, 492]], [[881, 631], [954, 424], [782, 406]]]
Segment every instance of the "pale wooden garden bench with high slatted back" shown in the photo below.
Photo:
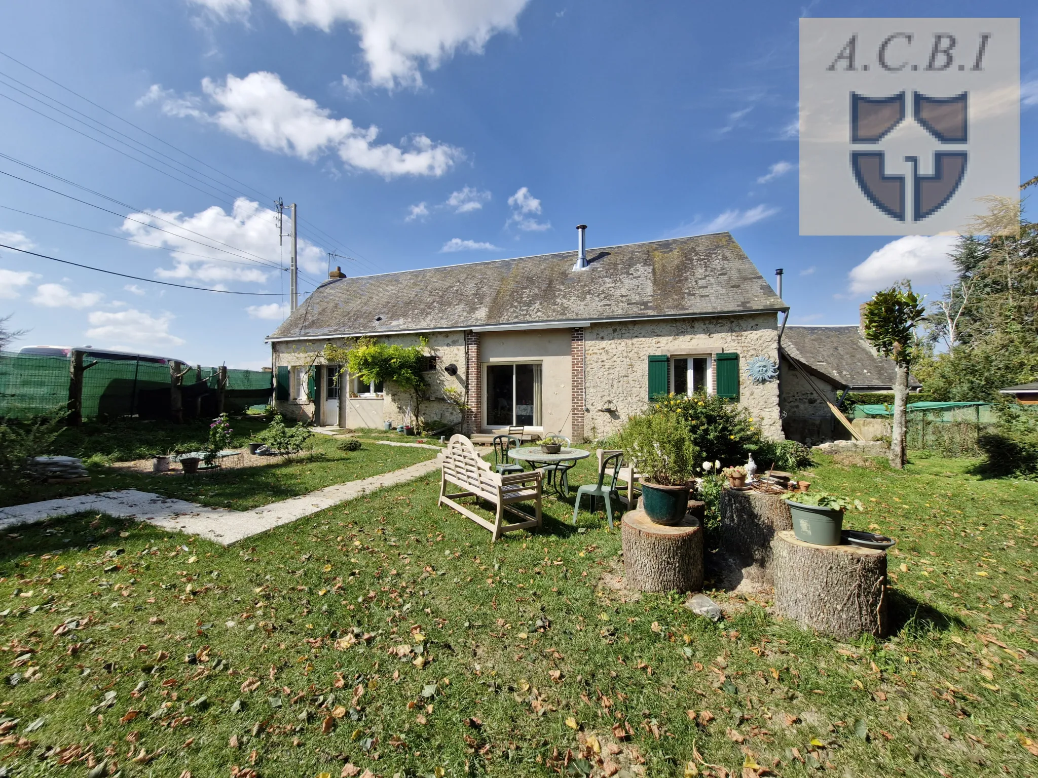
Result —
[[[466, 516], [481, 527], [493, 533], [491, 543], [506, 532], [541, 526], [541, 472], [495, 473], [489, 462], [485, 462], [472, 446], [472, 441], [464, 435], [453, 435], [446, 450], [441, 454], [442, 476], [440, 479], [440, 500], [438, 505], [449, 505], [462, 516]], [[447, 494], [447, 483], [461, 487], [462, 492]], [[496, 507], [493, 522], [488, 522], [455, 500], [459, 497], [480, 497]], [[513, 503], [534, 500], [536, 518], [512, 507]], [[512, 524], [504, 523], [508, 510], [523, 519]]]

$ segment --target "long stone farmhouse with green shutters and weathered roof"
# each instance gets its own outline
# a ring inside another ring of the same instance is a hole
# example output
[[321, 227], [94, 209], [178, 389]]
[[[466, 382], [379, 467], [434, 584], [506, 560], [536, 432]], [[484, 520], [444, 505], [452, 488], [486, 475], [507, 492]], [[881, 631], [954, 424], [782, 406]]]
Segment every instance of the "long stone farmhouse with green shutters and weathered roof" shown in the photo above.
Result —
[[[467, 435], [522, 426], [577, 442], [616, 430], [658, 394], [706, 389], [783, 438], [776, 376], [789, 308], [732, 237], [583, 250], [578, 229], [577, 251], [356, 278], [333, 271], [268, 338], [278, 411], [349, 428], [417, 414]], [[425, 337], [427, 396], [326, 364], [325, 343], [359, 337]], [[752, 362], [773, 374], [752, 376]]]

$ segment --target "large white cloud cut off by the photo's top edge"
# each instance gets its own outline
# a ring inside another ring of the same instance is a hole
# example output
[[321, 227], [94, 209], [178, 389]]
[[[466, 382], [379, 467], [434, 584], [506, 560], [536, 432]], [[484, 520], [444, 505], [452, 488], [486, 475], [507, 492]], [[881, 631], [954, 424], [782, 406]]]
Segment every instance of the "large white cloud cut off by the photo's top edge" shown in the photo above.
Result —
[[[222, 19], [244, 18], [248, 0], [191, 0]], [[267, 0], [292, 27], [330, 32], [349, 25], [360, 38], [371, 82], [392, 89], [421, 85], [419, 66], [435, 70], [455, 52], [473, 54], [498, 32], [516, 30], [528, 0]]]

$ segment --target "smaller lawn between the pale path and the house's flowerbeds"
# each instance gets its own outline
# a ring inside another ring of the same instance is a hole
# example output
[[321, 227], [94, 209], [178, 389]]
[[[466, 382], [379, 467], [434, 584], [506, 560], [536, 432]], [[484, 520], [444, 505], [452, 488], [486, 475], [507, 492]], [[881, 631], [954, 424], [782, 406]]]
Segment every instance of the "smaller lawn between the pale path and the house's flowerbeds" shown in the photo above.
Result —
[[[264, 426], [245, 419], [236, 419], [233, 424], [236, 433], [235, 446], [243, 446], [252, 432]], [[188, 445], [203, 441], [208, 429], [208, 424], [204, 427], [189, 425], [187, 430], [171, 424], [159, 427], [165, 443], [175, 440]], [[139, 430], [139, 426], [135, 427], [138, 436], [140, 436]], [[73, 437], [70, 440], [64, 439], [64, 434], [58, 439], [58, 450], [72, 449], [75, 451], [74, 455], [86, 459], [90, 481], [69, 485], [34, 484], [28, 493], [0, 493], [0, 506], [119, 489], [136, 489], [211, 507], [248, 510], [335, 483], [399, 470], [436, 456], [436, 451], [431, 449], [386, 446], [366, 438], [363, 439], [360, 450], [343, 451], [337, 447], [342, 439], [315, 435], [308, 444], [311, 450], [298, 455], [294, 461], [263, 467], [226, 469], [194, 476], [183, 476], [179, 473], [154, 476], [119, 472], [106, 464], [124, 457], [133, 459], [134, 454], [147, 455], [142, 451], [146, 451], [146, 446], [151, 444], [134, 442], [132, 438], [129, 443], [120, 442], [105, 432], [78, 436], [76, 433], [79, 430], [71, 432]], [[397, 437], [403, 440], [403, 436]]]

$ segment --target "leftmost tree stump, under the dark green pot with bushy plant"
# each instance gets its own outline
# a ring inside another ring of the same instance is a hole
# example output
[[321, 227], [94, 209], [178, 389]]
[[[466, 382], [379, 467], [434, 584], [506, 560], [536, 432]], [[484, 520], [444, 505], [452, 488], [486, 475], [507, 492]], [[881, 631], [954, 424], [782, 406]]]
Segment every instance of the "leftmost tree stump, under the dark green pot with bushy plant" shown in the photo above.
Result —
[[640, 591], [698, 591], [703, 587], [703, 525], [691, 513], [681, 524], [653, 524], [628, 510], [621, 525], [627, 585]]

